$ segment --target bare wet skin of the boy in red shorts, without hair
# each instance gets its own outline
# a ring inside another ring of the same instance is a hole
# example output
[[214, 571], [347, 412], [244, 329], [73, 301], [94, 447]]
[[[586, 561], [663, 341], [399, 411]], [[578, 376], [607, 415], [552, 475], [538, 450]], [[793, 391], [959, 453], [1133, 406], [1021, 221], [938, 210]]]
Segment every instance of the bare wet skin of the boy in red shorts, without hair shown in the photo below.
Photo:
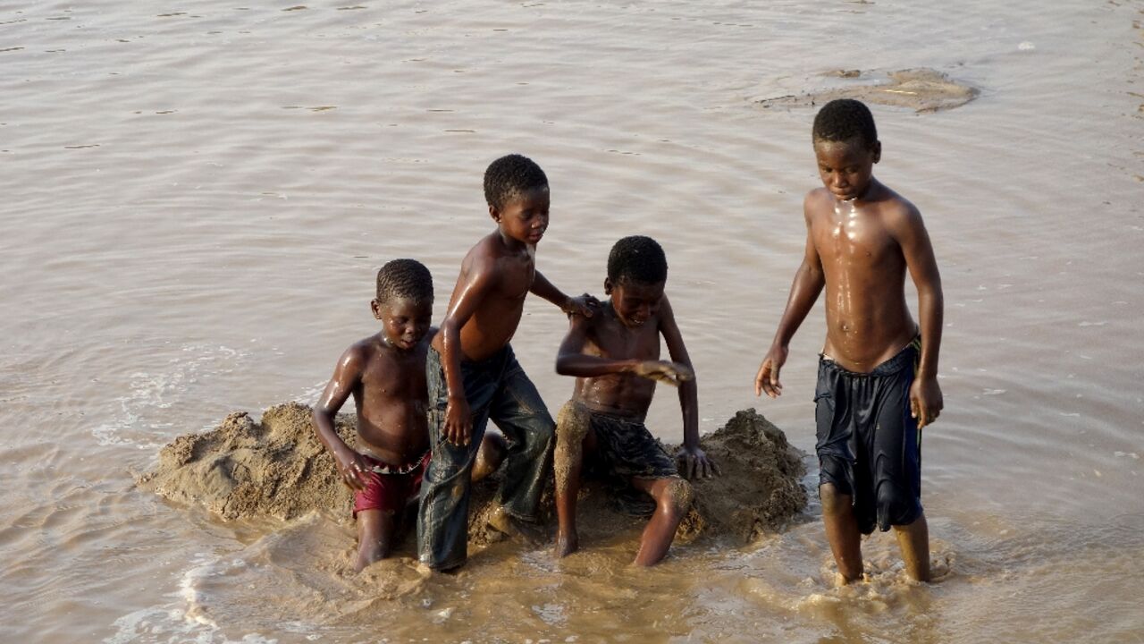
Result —
[[[426, 354], [432, 301], [391, 298], [371, 303], [382, 330], [358, 340], [337, 360], [334, 375], [313, 409], [318, 439], [334, 457], [342, 481], [365, 489], [367, 454], [391, 465], [407, 464], [429, 448], [426, 402]], [[334, 429], [334, 417], [352, 395], [357, 408], [357, 450]], [[387, 557], [399, 517], [395, 512], [358, 512], [358, 557], [355, 570]]]

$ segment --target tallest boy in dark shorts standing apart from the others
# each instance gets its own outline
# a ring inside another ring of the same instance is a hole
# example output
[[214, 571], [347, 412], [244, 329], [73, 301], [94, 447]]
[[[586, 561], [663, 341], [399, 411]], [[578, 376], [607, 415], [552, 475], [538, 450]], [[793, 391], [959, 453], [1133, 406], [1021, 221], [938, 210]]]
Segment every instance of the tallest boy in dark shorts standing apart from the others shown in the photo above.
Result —
[[[815, 117], [815, 157], [825, 188], [803, 203], [807, 250], [786, 311], [755, 376], [755, 395], [782, 393], [791, 338], [826, 286], [826, 344], [815, 390], [823, 521], [840, 582], [863, 574], [861, 534], [897, 533], [906, 571], [929, 581], [921, 505], [921, 429], [942, 411], [937, 358], [942, 278], [913, 204], [880, 183], [874, 117], [863, 103], [831, 101]], [[921, 328], [906, 305], [917, 288]]]

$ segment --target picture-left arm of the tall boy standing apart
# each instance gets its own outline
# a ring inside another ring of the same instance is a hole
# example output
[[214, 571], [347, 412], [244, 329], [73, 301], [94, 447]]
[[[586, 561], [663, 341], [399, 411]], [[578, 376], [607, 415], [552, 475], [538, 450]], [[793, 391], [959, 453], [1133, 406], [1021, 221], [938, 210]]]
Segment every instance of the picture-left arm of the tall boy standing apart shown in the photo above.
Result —
[[[811, 193], [813, 195], [813, 193]], [[779, 328], [774, 331], [774, 339], [763, 363], [758, 366], [755, 375], [755, 395], [766, 392], [771, 398], [782, 395], [782, 383], [779, 382], [779, 370], [786, 363], [787, 351], [791, 346], [791, 338], [799, 330], [799, 325], [807, 319], [810, 308], [815, 306], [815, 300], [823, 292], [826, 278], [823, 275], [823, 259], [815, 248], [815, 238], [811, 235], [810, 201], [811, 195], [807, 195], [803, 202], [803, 217], [807, 219], [807, 249], [803, 252], [802, 265], [794, 274], [791, 283], [791, 294], [787, 297], [787, 306], [779, 320]]]

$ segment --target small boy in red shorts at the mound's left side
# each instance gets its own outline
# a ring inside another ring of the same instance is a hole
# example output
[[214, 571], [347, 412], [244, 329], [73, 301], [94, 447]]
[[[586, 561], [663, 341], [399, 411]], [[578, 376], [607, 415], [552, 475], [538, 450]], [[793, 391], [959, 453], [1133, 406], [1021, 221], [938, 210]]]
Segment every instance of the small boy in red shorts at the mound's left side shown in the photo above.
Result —
[[[370, 306], [381, 331], [345, 350], [313, 409], [315, 433], [334, 457], [342, 481], [355, 492], [355, 571], [389, 555], [406, 502], [416, 497], [429, 462], [424, 380], [432, 317], [429, 270], [412, 259], [390, 261], [378, 272], [378, 297]], [[334, 430], [334, 417], [350, 394], [357, 407], [357, 451]], [[484, 461], [495, 461], [493, 447], [484, 446]]]

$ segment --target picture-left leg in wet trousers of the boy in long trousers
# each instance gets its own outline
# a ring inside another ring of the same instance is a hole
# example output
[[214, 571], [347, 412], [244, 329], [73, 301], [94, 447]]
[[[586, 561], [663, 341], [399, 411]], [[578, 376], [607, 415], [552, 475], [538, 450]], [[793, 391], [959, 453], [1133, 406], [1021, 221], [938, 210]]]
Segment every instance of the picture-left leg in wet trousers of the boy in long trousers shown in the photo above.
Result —
[[461, 366], [464, 395], [472, 411], [469, 445], [453, 445], [445, 439], [445, 407], [448, 394], [440, 355], [432, 348], [426, 360], [429, 385], [429, 442], [432, 456], [421, 481], [418, 511], [418, 558], [427, 566], [444, 571], [464, 564], [468, 558], [470, 471], [488, 421], [488, 401], [495, 382], [484, 374], [472, 374]]

